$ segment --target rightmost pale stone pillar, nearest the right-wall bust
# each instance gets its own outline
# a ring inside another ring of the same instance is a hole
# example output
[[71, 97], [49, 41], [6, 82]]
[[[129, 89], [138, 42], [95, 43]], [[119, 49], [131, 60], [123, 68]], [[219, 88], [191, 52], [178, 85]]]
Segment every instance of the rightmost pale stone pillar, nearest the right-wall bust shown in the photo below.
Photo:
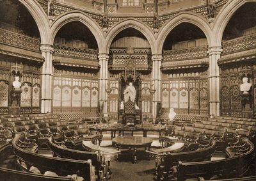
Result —
[[209, 102], [210, 115], [220, 116], [220, 68], [217, 64], [222, 52], [221, 47], [210, 47], [209, 54]]

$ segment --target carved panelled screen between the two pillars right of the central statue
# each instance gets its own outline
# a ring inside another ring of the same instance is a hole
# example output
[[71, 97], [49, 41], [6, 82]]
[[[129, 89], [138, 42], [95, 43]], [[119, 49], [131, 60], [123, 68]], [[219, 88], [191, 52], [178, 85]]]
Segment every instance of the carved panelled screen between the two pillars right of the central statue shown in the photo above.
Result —
[[173, 107], [179, 114], [209, 114], [207, 71], [188, 74], [163, 74], [163, 116]]

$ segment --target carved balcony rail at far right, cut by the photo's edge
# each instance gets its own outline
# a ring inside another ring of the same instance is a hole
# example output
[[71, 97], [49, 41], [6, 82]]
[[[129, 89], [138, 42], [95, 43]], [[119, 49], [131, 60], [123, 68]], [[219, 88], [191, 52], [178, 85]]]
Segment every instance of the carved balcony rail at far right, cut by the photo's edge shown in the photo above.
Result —
[[256, 33], [247, 36], [241, 36], [232, 40], [227, 40], [222, 43], [223, 54], [231, 52], [243, 51], [256, 47]]

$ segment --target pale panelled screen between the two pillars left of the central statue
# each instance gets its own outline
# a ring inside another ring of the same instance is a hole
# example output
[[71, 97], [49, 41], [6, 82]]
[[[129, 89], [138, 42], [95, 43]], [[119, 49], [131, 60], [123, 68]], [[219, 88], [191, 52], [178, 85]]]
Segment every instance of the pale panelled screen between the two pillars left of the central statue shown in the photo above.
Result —
[[54, 77], [52, 106], [54, 113], [85, 111], [88, 116], [98, 106], [98, 81], [77, 77]]

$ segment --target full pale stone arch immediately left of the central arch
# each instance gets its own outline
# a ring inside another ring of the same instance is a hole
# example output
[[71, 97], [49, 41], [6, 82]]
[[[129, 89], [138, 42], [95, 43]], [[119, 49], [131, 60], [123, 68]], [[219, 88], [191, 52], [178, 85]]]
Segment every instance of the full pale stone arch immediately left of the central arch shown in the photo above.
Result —
[[97, 41], [97, 45], [99, 48], [99, 53], [104, 53], [104, 35], [102, 33], [102, 29], [100, 26], [88, 15], [82, 12], [66, 12], [63, 13], [58, 19], [56, 19], [51, 26], [51, 37], [50, 43], [53, 45], [54, 38], [61, 27], [63, 27], [68, 22], [79, 21], [83, 23], [93, 34], [95, 40]]

